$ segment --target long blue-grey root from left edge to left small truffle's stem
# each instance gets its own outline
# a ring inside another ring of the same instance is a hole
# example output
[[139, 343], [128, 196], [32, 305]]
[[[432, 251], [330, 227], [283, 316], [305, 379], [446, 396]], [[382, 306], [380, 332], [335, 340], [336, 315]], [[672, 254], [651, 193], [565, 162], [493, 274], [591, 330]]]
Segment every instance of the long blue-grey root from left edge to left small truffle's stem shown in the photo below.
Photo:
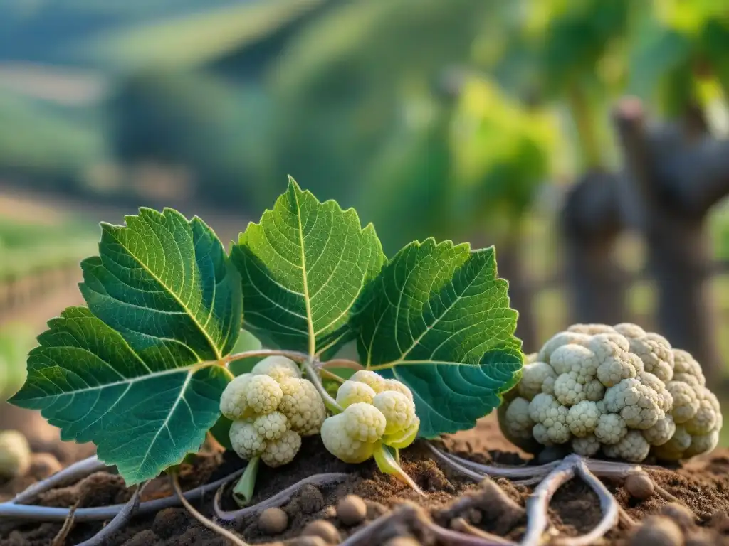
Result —
[[[197, 500], [203, 495], [217, 490], [220, 486], [235, 480], [243, 474], [244, 468], [227, 475], [212, 483], [204, 486], [185, 491], [184, 496], [187, 500]], [[180, 501], [177, 496], [165, 496], [163, 499], [155, 499], [152, 501], [142, 502], [139, 505], [137, 513], [139, 515], [155, 513], [164, 508], [179, 506]], [[100, 521], [109, 520], [124, 510], [125, 505], [101, 506], [95, 508], [79, 508], [76, 510], [76, 521]], [[69, 516], [68, 508], [49, 508], [45, 506], [31, 505], [15, 505], [12, 502], [6, 502], [0, 505], [0, 518], [15, 518], [19, 520], [42, 520], [42, 521], [65, 521]]]

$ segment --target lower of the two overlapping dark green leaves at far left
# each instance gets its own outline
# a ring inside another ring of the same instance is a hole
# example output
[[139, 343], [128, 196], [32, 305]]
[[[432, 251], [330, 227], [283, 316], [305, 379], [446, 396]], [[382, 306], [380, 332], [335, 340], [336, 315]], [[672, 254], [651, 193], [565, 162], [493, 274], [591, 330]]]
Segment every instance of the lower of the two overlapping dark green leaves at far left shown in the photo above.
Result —
[[11, 403], [40, 410], [64, 441], [93, 442], [128, 485], [154, 478], [197, 451], [220, 415], [227, 372], [177, 368], [134, 350], [85, 307], [52, 319], [28, 356]]

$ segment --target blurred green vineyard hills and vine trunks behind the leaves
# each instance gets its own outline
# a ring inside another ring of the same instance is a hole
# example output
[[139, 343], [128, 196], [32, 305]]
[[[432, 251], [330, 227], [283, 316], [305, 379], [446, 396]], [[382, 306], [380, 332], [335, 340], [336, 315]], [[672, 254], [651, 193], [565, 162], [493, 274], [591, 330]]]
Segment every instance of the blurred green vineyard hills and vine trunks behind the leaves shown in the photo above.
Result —
[[725, 0], [0, 0], [0, 391], [98, 221], [228, 241], [291, 174], [495, 244], [526, 351], [632, 320], [729, 407], [728, 51]]

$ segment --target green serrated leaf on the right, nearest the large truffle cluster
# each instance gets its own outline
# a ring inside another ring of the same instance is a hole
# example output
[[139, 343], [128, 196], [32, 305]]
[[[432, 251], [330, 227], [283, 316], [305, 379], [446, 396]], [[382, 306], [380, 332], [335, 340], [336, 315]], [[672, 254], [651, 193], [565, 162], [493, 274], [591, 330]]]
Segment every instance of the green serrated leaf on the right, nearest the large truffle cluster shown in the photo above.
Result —
[[362, 364], [410, 387], [424, 438], [474, 427], [518, 381], [507, 286], [493, 247], [428, 239], [400, 250], [354, 307]]

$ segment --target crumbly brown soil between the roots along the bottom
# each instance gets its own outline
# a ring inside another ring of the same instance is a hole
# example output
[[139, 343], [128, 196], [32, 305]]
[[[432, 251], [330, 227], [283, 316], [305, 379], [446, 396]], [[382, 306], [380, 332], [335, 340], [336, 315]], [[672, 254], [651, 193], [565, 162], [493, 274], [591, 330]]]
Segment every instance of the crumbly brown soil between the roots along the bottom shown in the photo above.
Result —
[[[504, 440], [493, 418], [484, 419], [475, 430], [448, 438], [445, 445], [462, 456], [481, 462], [500, 464], [524, 464], [525, 459]], [[510, 510], [499, 503], [483, 503], [478, 509], [448, 510], [457, 499], [477, 491], [477, 485], [462, 478], [448, 468], [436, 464], [428, 452], [415, 446], [403, 455], [403, 467], [425, 492], [426, 499], [418, 497], [408, 486], [394, 478], [381, 475], [374, 464], [347, 465], [329, 456], [318, 439], [305, 441], [302, 451], [292, 464], [275, 472], [261, 467], [254, 502], [267, 499], [281, 489], [319, 472], [348, 472], [351, 478], [335, 486], [315, 488], [307, 486], [295, 498], [284, 505], [289, 515], [289, 526], [284, 533], [275, 537], [265, 536], [259, 531], [257, 518], [249, 518], [233, 525], [233, 529], [254, 544], [278, 542], [298, 537], [303, 527], [310, 521], [324, 518], [338, 527], [341, 536], [346, 538], [359, 529], [348, 527], [338, 521], [335, 505], [346, 494], [362, 496], [367, 502], [367, 521], [388, 513], [402, 502], [412, 501], [425, 507], [434, 521], [449, 526], [454, 517], [460, 515], [473, 526], [484, 531], [500, 534], [518, 540], [523, 534], [526, 523], [523, 513], [509, 513]], [[192, 488], [212, 480], [217, 480], [241, 467], [243, 462], [231, 454], [208, 453], [198, 457], [195, 464], [184, 465], [181, 473], [183, 488]], [[316, 470], [313, 470], [316, 469]], [[672, 515], [685, 527], [687, 544], [729, 544], [729, 451], [718, 450], [711, 456], [695, 459], [676, 470], [652, 471], [655, 480], [693, 511], [693, 522], [681, 523], [677, 515]], [[20, 478], [23, 487], [31, 478]], [[0, 486], [0, 500], [16, 492], [18, 480]], [[507, 496], [524, 505], [531, 488], [515, 485], [509, 480], [498, 479], [496, 483]], [[631, 499], [622, 483], [607, 483], [625, 510], [636, 520], [647, 515], [666, 510], [666, 502], [659, 496], [639, 502]], [[145, 491], [144, 499], [159, 498], [170, 494], [168, 483], [158, 478]], [[101, 472], [77, 483], [74, 486], [58, 488], [42, 494], [36, 502], [44, 506], [69, 507], [79, 502], [80, 507], [93, 507], [125, 502], [130, 493], [122, 480], [115, 475]], [[224, 496], [229, 499], [229, 495]], [[212, 515], [211, 497], [198, 503], [198, 507]], [[224, 507], [233, 510], [235, 506], [225, 500]], [[597, 497], [579, 480], [573, 480], [561, 488], [550, 507], [550, 519], [563, 535], [575, 535], [589, 531], [600, 518]], [[366, 525], [367, 522], [361, 524]], [[360, 526], [361, 526], [360, 525]], [[66, 540], [66, 545], [82, 542], [101, 529], [102, 523], [77, 523]], [[50, 545], [61, 529], [61, 523], [0, 523], [0, 546], [40, 546]], [[391, 526], [385, 534], [378, 537], [377, 543], [397, 534], [413, 534], [424, 544], [437, 542], [421, 530], [408, 525]], [[607, 536], [607, 544], [627, 544], [629, 531], [614, 529]], [[696, 542], [698, 539], [704, 542]], [[693, 542], [691, 542], [693, 541]], [[109, 546], [161, 546], [161, 545], [225, 545], [225, 540], [204, 529], [182, 508], [162, 510], [155, 515], [140, 516], [133, 520], [124, 531], [118, 533]], [[650, 546], [645, 544], [644, 546]]]

